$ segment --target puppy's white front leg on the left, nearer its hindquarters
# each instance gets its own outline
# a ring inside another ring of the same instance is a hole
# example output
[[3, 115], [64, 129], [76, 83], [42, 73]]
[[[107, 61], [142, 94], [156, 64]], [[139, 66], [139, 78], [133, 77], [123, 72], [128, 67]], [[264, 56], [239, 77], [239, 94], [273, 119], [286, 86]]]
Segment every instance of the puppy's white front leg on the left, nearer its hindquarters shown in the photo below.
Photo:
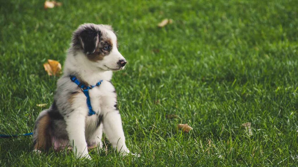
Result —
[[91, 159], [88, 154], [88, 147], [85, 138], [85, 118], [86, 115], [80, 113], [80, 111], [73, 111], [66, 119], [66, 130], [69, 142], [73, 146], [73, 152], [76, 157], [86, 157]]

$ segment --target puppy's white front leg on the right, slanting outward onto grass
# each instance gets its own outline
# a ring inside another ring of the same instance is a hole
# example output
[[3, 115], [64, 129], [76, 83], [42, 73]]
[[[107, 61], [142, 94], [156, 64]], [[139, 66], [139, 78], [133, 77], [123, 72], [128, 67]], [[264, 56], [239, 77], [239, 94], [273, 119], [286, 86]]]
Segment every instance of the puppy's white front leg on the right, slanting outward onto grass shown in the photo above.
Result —
[[110, 111], [103, 116], [103, 129], [114, 149], [124, 155], [130, 153], [125, 144], [119, 111]]

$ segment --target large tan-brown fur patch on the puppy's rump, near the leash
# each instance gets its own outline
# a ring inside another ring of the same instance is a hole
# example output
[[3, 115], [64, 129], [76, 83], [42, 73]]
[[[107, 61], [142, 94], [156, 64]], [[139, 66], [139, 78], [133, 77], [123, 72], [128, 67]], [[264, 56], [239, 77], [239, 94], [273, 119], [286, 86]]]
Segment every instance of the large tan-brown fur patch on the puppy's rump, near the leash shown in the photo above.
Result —
[[44, 149], [46, 151], [52, 146], [51, 135], [49, 131], [50, 117], [45, 114], [39, 121], [37, 127], [37, 139], [34, 149]]

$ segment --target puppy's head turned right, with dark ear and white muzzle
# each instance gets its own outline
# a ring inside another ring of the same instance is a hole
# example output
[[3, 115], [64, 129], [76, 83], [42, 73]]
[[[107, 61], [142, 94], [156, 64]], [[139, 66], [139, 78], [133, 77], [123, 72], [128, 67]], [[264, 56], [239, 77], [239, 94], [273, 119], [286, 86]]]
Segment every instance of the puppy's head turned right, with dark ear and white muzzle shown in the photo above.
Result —
[[80, 25], [73, 33], [72, 48], [84, 53], [92, 65], [102, 70], [122, 70], [126, 64], [126, 60], [118, 51], [117, 37], [108, 25]]

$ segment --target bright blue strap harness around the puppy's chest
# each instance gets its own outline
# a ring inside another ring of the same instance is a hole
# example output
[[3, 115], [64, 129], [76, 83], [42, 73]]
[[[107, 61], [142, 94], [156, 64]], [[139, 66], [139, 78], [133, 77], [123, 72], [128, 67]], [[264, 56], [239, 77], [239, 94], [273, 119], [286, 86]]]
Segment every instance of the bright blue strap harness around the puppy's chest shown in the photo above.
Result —
[[76, 83], [77, 86], [79, 86], [79, 87], [82, 89], [83, 93], [84, 93], [85, 96], [87, 97], [87, 106], [88, 106], [88, 109], [89, 109], [89, 113], [88, 113], [88, 115], [89, 115], [89, 116], [94, 115], [95, 112], [92, 110], [92, 106], [91, 106], [91, 102], [90, 102], [90, 96], [89, 96], [89, 89], [92, 89], [92, 88], [94, 88], [95, 86], [100, 86], [100, 84], [101, 84], [101, 82], [102, 82], [103, 80], [100, 80], [99, 82], [97, 82], [96, 85], [91, 85], [91, 87], [86, 86], [86, 85], [80, 83], [80, 81], [77, 80], [77, 77], [75, 77], [75, 76], [72, 76], [72, 75], [71, 75], [71, 76], [70, 76], [70, 80], [72, 80], [74, 83]]

